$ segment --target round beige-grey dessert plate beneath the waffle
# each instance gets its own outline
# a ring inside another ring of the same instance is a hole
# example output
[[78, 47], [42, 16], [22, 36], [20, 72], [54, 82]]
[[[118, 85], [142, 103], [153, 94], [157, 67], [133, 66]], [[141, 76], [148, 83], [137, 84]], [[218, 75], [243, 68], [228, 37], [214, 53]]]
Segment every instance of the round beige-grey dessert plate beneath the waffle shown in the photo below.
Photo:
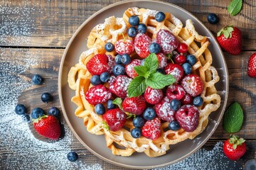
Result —
[[[110, 16], [122, 17], [124, 11], [133, 6], [137, 6], [139, 8], [150, 8], [156, 11], [170, 12], [183, 23], [185, 23], [187, 19], [191, 19], [196, 31], [201, 35], [207, 36], [210, 40], [208, 49], [213, 55], [213, 66], [218, 70], [220, 77], [220, 81], [215, 84], [216, 89], [218, 89], [218, 94], [221, 97], [220, 108], [210, 114], [210, 121], [206, 129], [193, 140], [185, 140], [176, 145], [171, 145], [171, 149], [161, 157], [150, 158], [144, 153], [134, 153], [131, 157], [113, 155], [111, 150], [106, 146], [104, 135], [92, 135], [87, 132], [86, 127], [83, 125], [83, 120], [77, 118], [74, 114], [77, 106], [70, 101], [70, 99], [75, 95], [75, 91], [71, 90], [68, 86], [68, 72], [70, 68], [79, 61], [80, 54], [87, 50], [87, 36], [90, 31], [98, 23], [104, 23], [105, 18]], [[65, 49], [60, 63], [58, 91], [60, 96], [60, 105], [62, 107], [65, 120], [78, 140], [82, 145], [90, 150], [90, 152], [106, 162], [110, 162], [118, 166], [134, 169], [156, 168], [159, 166], [174, 164], [185, 159], [202, 147], [213, 134], [220, 123], [228, 99], [228, 69], [218, 42], [216, 42], [214, 36], [210, 33], [210, 30], [208, 30], [201, 21], [188, 11], [174, 4], [167, 4], [160, 1], [122, 1], [97, 11], [97, 13], [93, 14], [84, 23], [82, 23], [80, 28], [78, 28], [74, 33]]]

